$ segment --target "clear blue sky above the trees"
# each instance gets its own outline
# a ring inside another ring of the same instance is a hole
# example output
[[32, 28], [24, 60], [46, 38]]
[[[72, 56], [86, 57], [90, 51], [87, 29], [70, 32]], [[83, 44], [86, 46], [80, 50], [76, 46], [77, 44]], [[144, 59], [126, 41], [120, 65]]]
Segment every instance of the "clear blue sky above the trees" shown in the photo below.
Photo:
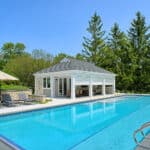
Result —
[[149, 6], [149, 0], [0, 0], [0, 47], [22, 42], [27, 52], [75, 55], [82, 51], [94, 12], [101, 16], [106, 33], [115, 22], [126, 32], [137, 11], [150, 24]]

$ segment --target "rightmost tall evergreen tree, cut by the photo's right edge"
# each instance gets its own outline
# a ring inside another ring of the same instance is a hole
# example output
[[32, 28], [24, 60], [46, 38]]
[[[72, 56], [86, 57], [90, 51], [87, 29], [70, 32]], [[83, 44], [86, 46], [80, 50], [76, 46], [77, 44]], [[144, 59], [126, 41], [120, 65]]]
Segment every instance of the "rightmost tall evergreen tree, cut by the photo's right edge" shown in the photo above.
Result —
[[[142, 91], [145, 86], [150, 85], [147, 80], [149, 73], [149, 44], [150, 44], [150, 26], [146, 25], [145, 17], [140, 13], [136, 13], [136, 18], [131, 22], [128, 31], [131, 49], [134, 53], [136, 61], [136, 69], [134, 74], [134, 87], [136, 91]], [[149, 89], [150, 90], [150, 89]]]

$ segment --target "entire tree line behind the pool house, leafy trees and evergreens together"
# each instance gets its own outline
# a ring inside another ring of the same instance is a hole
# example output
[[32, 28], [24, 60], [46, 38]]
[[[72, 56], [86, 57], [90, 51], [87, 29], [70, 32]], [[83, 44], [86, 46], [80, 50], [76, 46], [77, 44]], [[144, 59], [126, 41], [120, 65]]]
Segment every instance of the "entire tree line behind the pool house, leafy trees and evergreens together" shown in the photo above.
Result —
[[150, 26], [140, 12], [136, 13], [127, 32], [114, 23], [108, 34], [103, 30], [100, 15], [94, 13], [87, 33], [88, 36], [83, 37], [83, 49], [76, 56], [64, 53], [53, 56], [41, 49], [27, 53], [23, 43], [4, 43], [0, 49], [0, 69], [33, 88], [33, 73], [65, 57], [73, 57], [114, 72], [117, 90], [150, 92]]

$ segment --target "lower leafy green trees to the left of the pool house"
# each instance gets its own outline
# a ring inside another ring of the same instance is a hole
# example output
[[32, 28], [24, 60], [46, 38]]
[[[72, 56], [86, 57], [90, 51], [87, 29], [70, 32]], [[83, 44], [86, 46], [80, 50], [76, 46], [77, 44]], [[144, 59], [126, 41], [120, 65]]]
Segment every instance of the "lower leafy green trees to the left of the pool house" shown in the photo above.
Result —
[[0, 70], [18, 77], [19, 84], [33, 89], [33, 74], [58, 63], [66, 56], [60, 53], [54, 57], [42, 49], [34, 49], [28, 53], [23, 43], [7, 42], [0, 49]]

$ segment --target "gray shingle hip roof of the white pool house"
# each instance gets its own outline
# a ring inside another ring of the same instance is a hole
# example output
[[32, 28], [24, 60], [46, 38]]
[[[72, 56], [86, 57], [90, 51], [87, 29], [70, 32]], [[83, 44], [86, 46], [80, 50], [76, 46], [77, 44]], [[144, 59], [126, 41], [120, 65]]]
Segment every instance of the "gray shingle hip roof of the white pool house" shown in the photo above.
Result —
[[52, 67], [40, 70], [37, 73], [59, 72], [59, 71], [67, 71], [67, 70], [82, 70], [82, 71], [114, 74], [101, 67], [97, 67], [92, 63], [76, 60], [73, 58], [65, 58], [60, 63]]

